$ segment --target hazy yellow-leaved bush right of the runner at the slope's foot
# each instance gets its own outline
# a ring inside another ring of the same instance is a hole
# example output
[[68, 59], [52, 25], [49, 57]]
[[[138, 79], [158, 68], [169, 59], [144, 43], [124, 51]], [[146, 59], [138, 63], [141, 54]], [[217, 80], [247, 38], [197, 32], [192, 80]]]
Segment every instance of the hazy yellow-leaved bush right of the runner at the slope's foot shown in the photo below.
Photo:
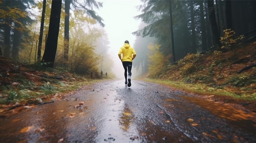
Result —
[[148, 73], [150, 77], [155, 77], [168, 65], [171, 55], [165, 56], [160, 52], [161, 45], [148, 46]]

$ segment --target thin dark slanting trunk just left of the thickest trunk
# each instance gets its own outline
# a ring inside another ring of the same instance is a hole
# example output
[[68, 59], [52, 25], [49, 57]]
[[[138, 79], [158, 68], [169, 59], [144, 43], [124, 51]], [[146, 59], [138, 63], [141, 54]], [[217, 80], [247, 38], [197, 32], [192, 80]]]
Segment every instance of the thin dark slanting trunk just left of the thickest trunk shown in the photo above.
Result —
[[38, 42], [37, 62], [40, 62], [41, 60], [41, 49], [42, 49], [43, 31], [44, 31], [44, 24], [45, 24], [45, 8], [46, 8], [46, 0], [43, 0], [43, 11], [42, 11], [39, 42]]

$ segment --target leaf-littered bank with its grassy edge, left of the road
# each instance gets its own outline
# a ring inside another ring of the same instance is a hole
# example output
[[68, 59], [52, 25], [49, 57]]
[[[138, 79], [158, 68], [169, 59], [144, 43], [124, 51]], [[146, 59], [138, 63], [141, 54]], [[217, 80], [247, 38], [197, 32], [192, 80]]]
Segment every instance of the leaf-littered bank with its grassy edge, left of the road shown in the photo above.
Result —
[[25, 104], [37, 99], [50, 101], [57, 93], [64, 94], [103, 80], [65, 70], [22, 64], [11, 59], [0, 58], [0, 62], [3, 63], [0, 68], [10, 71], [8, 80], [0, 76], [0, 105]]

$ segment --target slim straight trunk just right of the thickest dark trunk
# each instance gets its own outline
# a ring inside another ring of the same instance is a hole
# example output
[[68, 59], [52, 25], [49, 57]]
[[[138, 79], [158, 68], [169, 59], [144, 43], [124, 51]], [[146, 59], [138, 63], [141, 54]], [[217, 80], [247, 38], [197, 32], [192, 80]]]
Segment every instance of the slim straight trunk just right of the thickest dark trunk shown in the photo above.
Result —
[[68, 61], [69, 51], [69, 26], [70, 26], [70, 3], [71, 0], [65, 0], [65, 29], [64, 29], [64, 60]]

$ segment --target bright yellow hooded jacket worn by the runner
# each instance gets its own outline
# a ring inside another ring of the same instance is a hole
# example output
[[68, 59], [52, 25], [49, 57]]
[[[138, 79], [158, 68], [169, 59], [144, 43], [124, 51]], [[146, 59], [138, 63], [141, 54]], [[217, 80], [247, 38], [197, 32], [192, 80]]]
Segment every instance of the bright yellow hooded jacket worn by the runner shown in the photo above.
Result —
[[[123, 58], [121, 57], [121, 54], [123, 54]], [[136, 55], [136, 52], [128, 43], [124, 43], [124, 46], [120, 48], [118, 53], [119, 59], [121, 59], [122, 62], [132, 62], [133, 55]]]

